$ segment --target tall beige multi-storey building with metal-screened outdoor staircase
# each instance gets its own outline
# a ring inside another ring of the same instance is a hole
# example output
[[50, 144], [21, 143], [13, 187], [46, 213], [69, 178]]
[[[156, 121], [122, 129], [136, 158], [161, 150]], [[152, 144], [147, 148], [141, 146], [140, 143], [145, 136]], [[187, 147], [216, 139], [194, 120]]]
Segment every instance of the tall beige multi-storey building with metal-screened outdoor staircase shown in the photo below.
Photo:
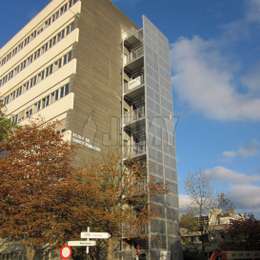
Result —
[[[149, 202], [145, 259], [179, 259], [170, 48], [148, 20], [138, 28], [109, 0], [53, 0], [0, 49], [0, 97], [14, 123], [59, 120], [78, 160], [119, 149], [168, 193]], [[84, 150], [84, 151], [83, 151]], [[116, 258], [133, 259], [124, 245]], [[115, 259], [116, 259], [115, 258]]]

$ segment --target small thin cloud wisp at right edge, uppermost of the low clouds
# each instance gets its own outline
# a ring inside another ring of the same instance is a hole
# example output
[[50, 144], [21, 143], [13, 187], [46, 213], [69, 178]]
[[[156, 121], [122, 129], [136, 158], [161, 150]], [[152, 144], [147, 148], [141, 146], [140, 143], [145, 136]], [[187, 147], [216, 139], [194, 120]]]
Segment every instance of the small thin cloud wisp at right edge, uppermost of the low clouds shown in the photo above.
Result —
[[238, 150], [224, 151], [223, 156], [225, 158], [246, 158], [254, 156], [259, 152], [260, 144], [257, 142], [252, 142], [244, 147], [240, 147]]

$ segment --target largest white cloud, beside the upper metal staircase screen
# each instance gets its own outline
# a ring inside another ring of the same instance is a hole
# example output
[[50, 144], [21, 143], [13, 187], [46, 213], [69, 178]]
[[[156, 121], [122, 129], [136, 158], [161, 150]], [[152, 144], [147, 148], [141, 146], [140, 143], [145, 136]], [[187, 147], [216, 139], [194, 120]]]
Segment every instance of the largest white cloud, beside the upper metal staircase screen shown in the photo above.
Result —
[[220, 120], [260, 120], [260, 98], [237, 91], [235, 67], [214, 41], [181, 38], [172, 49], [173, 83], [192, 108]]

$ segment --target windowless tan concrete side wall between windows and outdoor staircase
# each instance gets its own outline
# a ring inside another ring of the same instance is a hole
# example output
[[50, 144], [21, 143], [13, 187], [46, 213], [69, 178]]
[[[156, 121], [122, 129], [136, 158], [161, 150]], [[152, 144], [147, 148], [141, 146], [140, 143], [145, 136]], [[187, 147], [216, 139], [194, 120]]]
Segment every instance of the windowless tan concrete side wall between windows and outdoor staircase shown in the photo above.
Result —
[[[135, 26], [108, 0], [82, 1], [78, 25], [75, 102], [67, 129], [101, 152], [120, 149], [121, 44], [124, 32]], [[87, 151], [78, 158], [86, 161], [95, 154]]]

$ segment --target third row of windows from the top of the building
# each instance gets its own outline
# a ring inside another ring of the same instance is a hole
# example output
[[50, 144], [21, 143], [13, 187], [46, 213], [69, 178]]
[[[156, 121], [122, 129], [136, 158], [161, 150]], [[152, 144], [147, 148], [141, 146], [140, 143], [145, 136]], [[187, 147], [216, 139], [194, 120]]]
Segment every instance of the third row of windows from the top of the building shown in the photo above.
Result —
[[49, 77], [51, 74], [53, 74], [55, 71], [60, 69], [62, 66], [69, 63], [73, 58], [72, 50], [66, 53], [61, 58], [57, 59], [55, 62], [53, 62], [51, 65], [40, 71], [38, 74], [34, 75], [32, 78], [27, 80], [25, 83], [23, 83], [21, 86], [19, 86], [17, 89], [15, 89], [13, 92], [11, 92], [9, 95], [4, 97], [4, 105], [9, 104], [14, 99], [21, 96], [23, 93], [27, 92], [29, 89], [34, 87], [36, 84], [38, 84], [40, 81], [44, 80], [45, 78]]

